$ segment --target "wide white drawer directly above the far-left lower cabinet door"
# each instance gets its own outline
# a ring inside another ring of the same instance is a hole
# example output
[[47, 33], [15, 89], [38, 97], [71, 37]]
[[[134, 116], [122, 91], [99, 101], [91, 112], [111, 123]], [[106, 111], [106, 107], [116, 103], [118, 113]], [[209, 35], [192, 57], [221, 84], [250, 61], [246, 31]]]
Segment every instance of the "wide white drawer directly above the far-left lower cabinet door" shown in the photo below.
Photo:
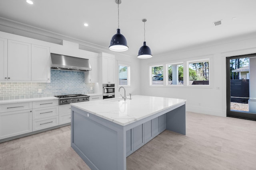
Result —
[[26, 110], [26, 109], [32, 109], [32, 102], [0, 105], [0, 113], [9, 112], [9, 111]]

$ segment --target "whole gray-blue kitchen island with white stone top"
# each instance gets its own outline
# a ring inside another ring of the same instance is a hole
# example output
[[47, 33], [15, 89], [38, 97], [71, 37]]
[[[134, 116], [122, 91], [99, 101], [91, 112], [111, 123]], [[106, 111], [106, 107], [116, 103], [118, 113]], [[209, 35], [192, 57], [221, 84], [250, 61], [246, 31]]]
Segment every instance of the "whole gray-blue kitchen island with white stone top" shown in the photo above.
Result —
[[126, 170], [126, 157], [162, 131], [186, 135], [185, 103], [136, 95], [71, 104], [71, 147], [92, 170]]

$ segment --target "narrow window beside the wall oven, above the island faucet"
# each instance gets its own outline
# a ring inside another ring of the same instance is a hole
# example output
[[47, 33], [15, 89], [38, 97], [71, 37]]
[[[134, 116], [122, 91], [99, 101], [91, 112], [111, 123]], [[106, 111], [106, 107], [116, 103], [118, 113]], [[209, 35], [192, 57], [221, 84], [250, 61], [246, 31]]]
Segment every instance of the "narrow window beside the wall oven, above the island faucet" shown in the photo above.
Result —
[[130, 86], [130, 66], [124, 64], [118, 65], [118, 85]]

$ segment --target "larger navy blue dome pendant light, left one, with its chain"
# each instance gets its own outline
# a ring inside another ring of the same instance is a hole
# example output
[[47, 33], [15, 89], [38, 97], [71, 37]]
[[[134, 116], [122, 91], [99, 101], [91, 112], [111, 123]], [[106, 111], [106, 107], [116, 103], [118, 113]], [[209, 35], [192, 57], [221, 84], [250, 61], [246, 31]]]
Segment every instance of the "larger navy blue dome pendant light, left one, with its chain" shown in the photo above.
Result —
[[129, 49], [129, 47], [127, 46], [127, 41], [124, 35], [120, 33], [119, 29], [119, 4], [121, 4], [121, 0], [116, 0], [116, 4], [118, 4], [118, 29], [110, 41], [109, 49], [111, 51], [126, 51]]

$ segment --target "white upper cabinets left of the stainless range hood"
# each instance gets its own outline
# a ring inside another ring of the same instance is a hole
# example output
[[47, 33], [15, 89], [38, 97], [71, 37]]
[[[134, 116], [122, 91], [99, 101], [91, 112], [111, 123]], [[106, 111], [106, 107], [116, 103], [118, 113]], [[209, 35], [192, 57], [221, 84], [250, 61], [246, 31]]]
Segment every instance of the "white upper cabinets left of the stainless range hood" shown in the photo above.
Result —
[[0, 38], [0, 80], [50, 82], [50, 48]]

